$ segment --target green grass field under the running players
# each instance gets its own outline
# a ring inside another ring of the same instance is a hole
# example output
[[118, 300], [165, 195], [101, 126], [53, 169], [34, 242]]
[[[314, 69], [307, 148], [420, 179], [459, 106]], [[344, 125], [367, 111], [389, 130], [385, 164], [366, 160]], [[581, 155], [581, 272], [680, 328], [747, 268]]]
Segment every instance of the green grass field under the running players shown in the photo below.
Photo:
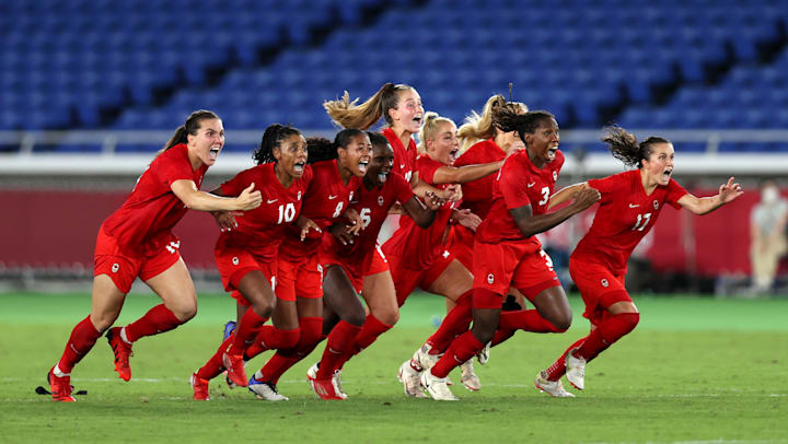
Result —
[[[125, 324], [157, 303], [130, 295]], [[584, 336], [575, 307], [564, 335], [519, 332], [476, 365], [483, 389], [454, 386], [459, 402], [408, 399], [397, 366], [433, 330], [442, 299], [413, 296], [403, 318], [343, 374], [346, 401], [322, 401], [305, 371], [317, 351], [282, 377], [288, 402], [256, 400], [211, 383], [210, 402], [192, 400], [188, 375], [216, 350], [231, 300], [202, 295], [197, 317], [135, 344], [132, 379], [113, 371], [104, 338], [74, 370], [88, 396], [76, 404], [34, 394], [46, 385], [85, 294], [0, 295], [0, 442], [788, 442], [788, 300], [637, 297], [637, 329], [592, 362], [587, 388], [555, 399], [533, 387], [537, 371]], [[254, 371], [269, 353], [252, 362]], [[459, 381], [459, 374], [452, 375]], [[566, 386], [568, 384], [565, 383]]]

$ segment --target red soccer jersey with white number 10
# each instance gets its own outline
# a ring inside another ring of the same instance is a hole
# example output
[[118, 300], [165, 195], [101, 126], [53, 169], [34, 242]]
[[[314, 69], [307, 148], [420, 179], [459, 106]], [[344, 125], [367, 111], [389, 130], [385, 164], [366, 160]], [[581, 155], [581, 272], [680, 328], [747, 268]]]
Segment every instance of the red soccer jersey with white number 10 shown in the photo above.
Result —
[[237, 196], [254, 182], [263, 202], [254, 210], [236, 217], [239, 226], [222, 233], [217, 245], [240, 247], [271, 260], [276, 258], [287, 230], [301, 213], [302, 197], [312, 180], [312, 167], [306, 165], [303, 175], [293, 180], [289, 188], [285, 188], [276, 177], [274, 165], [266, 163], [242, 171], [221, 185], [224, 196]]

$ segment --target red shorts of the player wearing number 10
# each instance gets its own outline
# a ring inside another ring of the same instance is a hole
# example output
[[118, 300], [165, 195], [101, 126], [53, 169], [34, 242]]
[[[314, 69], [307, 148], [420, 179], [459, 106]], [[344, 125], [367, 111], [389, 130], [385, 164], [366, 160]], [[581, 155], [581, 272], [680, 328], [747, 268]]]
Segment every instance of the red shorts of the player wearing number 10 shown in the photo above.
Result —
[[213, 250], [217, 268], [222, 278], [224, 290], [231, 291], [230, 294], [239, 304], [250, 306], [250, 302], [239, 291], [239, 282], [250, 271], [259, 270], [270, 282], [271, 290], [276, 292], [276, 260], [267, 260], [241, 248], [228, 246], [218, 247]]

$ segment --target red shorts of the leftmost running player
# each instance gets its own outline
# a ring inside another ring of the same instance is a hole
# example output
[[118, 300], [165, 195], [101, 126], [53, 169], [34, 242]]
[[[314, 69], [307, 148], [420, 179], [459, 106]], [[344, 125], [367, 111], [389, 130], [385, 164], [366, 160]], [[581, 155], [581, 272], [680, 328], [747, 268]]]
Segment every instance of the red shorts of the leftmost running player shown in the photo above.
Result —
[[125, 256], [120, 253], [115, 237], [104, 233], [102, 225], [93, 255], [93, 277], [106, 274], [118, 290], [128, 293], [138, 276], [147, 281], [166, 271], [181, 259], [181, 241], [174, 234], [170, 236], [171, 241], [157, 253], [143, 257]]

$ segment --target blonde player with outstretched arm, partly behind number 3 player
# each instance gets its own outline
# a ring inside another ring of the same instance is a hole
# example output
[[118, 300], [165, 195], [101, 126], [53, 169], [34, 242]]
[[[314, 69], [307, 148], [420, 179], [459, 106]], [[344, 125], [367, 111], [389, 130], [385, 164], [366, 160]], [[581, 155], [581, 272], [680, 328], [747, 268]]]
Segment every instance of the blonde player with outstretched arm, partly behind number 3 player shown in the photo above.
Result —
[[[503, 161], [452, 166], [460, 149], [456, 126], [434, 113], [427, 113], [425, 118], [425, 126], [419, 133], [420, 148], [425, 154], [417, 160], [417, 172], [428, 184], [436, 187], [463, 184], [488, 176], [500, 168]], [[441, 208], [429, 229], [421, 229], [412, 220], [402, 219], [399, 229], [383, 244], [399, 306], [416, 288], [444, 295], [459, 303], [471, 297], [471, 271], [447, 248], [447, 238], [452, 226], [450, 219], [472, 229], [475, 229], [480, 220], [475, 214], [456, 211], [455, 207], [455, 202], [452, 202]], [[421, 395], [418, 388], [418, 372], [422, 370], [421, 363], [414, 360], [401, 365], [398, 378], [406, 395]], [[476, 387], [476, 384], [473, 386]]]

